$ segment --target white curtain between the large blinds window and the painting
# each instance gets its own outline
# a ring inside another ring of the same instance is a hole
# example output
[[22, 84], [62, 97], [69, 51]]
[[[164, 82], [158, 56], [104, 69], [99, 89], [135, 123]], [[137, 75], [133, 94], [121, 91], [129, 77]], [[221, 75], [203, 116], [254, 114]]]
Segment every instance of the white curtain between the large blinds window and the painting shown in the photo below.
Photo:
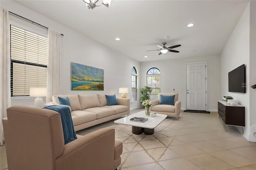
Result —
[[48, 29], [48, 65], [46, 103], [50, 103], [52, 95], [61, 92], [60, 82], [60, 37], [54, 30]]

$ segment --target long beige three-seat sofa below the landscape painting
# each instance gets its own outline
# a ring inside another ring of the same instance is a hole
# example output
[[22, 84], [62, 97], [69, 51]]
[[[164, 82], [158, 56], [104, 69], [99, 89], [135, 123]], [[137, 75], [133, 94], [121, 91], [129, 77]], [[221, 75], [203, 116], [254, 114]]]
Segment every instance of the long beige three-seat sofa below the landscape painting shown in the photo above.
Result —
[[59, 105], [58, 97], [68, 97], [75, 131], [92, 127], [130, 113], [130, 99], [116, 98], [119, 105], [108, 106], [105, 94], [54, 95], [51, 105]]

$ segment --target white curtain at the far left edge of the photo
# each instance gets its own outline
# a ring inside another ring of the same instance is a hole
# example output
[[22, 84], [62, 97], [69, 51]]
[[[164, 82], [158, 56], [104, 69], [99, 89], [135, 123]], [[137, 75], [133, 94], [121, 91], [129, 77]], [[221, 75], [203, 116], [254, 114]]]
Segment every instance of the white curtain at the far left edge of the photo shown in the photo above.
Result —
[[0, 12], [0, 145], [4, 144], [2, 119], [7, 117], [6, 109], [11, 105], [10, 82], [10, 23], [9, 13]]

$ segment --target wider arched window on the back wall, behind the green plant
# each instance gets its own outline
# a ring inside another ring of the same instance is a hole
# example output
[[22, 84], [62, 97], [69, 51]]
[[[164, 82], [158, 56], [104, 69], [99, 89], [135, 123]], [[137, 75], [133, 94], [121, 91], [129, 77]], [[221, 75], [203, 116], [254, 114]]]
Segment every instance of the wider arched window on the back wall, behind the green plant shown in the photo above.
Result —
[[150, 100], [158, 100], [160, 93], [160, 71], [158, 68], [151, 68], [146, 75], [146, 86], [152, 88]]

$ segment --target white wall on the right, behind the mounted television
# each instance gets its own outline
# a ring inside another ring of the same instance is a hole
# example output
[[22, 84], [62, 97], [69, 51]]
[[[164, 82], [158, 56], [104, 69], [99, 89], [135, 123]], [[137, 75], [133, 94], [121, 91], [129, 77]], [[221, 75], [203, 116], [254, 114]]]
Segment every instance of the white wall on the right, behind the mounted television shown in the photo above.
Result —
[[[251, 2], [252, 3], [252, 2]], [[253, 2], [254, 3], [254, 2]], [[254, 10], [255, 10], [254, 6]], [[252, 12], [252, 11], [251, 11]], [[255, 12], [254, 12], [255, 14]], [[255, 16], [254, 16], [255, 20]], [[250, 132], [250, 118], [255, 119], [255, 100], [250, 101], [250, 94], [252, 99], [255, 99], [255, 89], [250, 88], [255, 82], [255, 51], [250, 51], [250, 31], [255, 32], [254, 28], [250, 28], [250, 4], [244, 10], [243, 15], [236, 24], [232, 35], [226, 43], [221, 54], [221, 95], [232, 96], [239, 104], [245, 107], [245, 130], [244, 137], [249, 140]], [[254, 33], [255, 34], [255, 33]], [[255, 35], [254, 35], [255, 42]], [[255, 44], [255, 43], [254, 43]], [[252, 46], [255, 49], [255, 46]], [[251, 53], [251, 54], [250, 54]], [[252, 54], [254, 53], [254, 54]], [[250, 63], [250, 60], [253, 61]], [[246, 65], [246, 93], [228, 92], [228, 72], [236, 67]], [[253, 71], [253, 72], [250, 72]], [[254, 80], [254, 82], [252, 82]], [[254, 108], [254, 109], [250, 109]], [[251, 111], [251, 112], [250, 112]], [[255, 124], [255, 120], [251, 123]], [[240, 128], [238, 128], [240, 130]], [[256, 141], [251, 138], [250, 141]]]

